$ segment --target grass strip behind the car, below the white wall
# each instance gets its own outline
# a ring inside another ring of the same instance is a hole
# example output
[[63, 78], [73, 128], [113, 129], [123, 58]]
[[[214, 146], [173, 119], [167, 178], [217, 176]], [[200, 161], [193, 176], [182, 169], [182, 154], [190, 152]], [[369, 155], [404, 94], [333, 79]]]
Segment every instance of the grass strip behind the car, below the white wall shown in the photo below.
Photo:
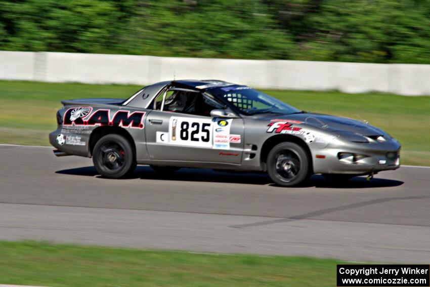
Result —
[[[0, 81], [0, 143], [49, 145], [60, 100], [127, 98], [139, 86]], [[367, 120], [402, 144], [402, 163], [430, 166], [430, 97], [339, 92], [265, 91], [312, 112]]]

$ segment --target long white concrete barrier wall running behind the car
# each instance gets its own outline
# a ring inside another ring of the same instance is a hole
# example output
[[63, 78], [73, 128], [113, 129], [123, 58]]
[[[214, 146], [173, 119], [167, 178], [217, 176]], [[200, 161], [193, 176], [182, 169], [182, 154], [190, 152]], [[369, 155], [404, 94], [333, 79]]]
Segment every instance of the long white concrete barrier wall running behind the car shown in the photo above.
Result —
[[430, 65], [0, 51], [0, 79], [145, 85], [174, 77], [266, 89], [430, 95]]

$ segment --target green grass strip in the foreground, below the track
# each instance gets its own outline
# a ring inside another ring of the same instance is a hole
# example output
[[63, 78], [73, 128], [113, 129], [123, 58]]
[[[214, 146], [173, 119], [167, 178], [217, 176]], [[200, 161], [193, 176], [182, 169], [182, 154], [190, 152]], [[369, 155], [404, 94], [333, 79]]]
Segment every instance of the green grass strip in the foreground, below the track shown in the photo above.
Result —
[[0, 241], [0, 284], [335, 286], [340, 261]]

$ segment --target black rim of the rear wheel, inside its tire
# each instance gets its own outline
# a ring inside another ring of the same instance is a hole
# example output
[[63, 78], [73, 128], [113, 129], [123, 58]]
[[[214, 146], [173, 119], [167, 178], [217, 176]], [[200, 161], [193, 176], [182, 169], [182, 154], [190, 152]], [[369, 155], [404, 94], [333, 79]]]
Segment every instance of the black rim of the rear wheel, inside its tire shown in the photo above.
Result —
[[125, 151], [116, 142], [105, 142], [100, 147], [99, 157], [103, 167], [110, 172], [122, 169], [125, 163]]

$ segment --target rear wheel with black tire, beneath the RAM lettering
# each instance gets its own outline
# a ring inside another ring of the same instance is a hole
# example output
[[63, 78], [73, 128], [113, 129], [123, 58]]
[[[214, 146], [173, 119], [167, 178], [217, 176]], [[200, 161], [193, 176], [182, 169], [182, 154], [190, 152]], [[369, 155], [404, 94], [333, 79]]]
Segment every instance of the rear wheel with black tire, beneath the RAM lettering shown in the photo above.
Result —
[[135, 151], [123, 136], [110, 134], [98, 140], [93, 150], [96, 170], [106, 178], [123, 178], [136, 169]]

